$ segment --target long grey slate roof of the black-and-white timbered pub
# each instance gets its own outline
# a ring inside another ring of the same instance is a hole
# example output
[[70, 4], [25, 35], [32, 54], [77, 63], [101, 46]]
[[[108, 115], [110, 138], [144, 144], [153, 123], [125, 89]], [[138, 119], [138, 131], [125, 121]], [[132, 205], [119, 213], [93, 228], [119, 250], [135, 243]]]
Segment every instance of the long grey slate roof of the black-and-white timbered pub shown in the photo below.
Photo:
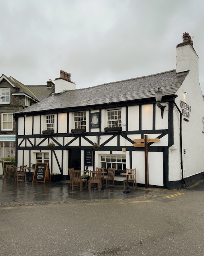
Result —
[[89, 88], [69, 90], [53, 94], [49, 98], [17, 113], [69, 109], [81, 106], [97, 106], [116, 102], [144, 100], [155, 97], [159, 87], [163, 96], [174, 95], [187, 74], [177, 76], [175, 70], [163, 73], [111, 82]]

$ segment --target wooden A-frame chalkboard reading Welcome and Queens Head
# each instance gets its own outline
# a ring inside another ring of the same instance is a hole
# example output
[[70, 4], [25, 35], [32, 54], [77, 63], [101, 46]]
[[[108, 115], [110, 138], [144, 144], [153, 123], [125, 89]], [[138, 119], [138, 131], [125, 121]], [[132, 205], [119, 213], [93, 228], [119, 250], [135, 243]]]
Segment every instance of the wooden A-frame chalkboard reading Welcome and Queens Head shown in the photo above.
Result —
[[36, 163], [34, 174], [33, 174], [33, 182], [37, 181], [37, 182], [45, 183], [45, 180], [49, 180], [51, 182], [49, 164]]

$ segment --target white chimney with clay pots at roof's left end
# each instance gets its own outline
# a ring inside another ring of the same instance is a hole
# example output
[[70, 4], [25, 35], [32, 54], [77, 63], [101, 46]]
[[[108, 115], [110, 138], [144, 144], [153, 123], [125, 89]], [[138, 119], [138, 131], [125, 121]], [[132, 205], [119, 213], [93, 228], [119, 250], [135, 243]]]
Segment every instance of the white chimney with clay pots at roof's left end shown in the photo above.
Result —
[[76, 84], [71, 81], [71, 74], [60, 70], [60, 77], [55, 78], [55, 93], [60, 93], [67, 90], [75, 90]]

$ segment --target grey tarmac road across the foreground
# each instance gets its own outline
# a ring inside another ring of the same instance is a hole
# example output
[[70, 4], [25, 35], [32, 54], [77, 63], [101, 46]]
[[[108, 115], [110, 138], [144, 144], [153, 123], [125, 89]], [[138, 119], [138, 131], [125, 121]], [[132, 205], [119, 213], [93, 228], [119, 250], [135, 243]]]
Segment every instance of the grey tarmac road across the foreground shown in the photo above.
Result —
[[0, 255], [204, 255], [204, 183], [145, 200], [0, 207]]

